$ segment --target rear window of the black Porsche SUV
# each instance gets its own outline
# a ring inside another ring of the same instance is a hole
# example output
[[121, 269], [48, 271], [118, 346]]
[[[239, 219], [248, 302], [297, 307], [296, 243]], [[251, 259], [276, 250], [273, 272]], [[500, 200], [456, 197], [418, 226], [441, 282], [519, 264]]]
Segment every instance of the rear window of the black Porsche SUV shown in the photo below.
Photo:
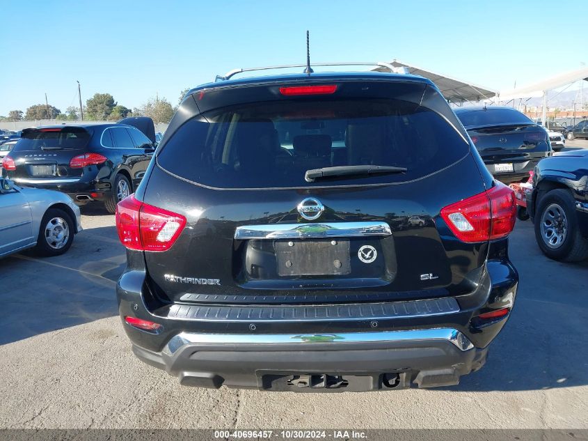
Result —
[[43, 148], [63, 148], [72, 150], [85, 148], [90, 141], [90, 133], [82, 127], [67, 127], [64, 129], [40, 129], [24, 132], [17, 142], [15, 152], [38, 151]]

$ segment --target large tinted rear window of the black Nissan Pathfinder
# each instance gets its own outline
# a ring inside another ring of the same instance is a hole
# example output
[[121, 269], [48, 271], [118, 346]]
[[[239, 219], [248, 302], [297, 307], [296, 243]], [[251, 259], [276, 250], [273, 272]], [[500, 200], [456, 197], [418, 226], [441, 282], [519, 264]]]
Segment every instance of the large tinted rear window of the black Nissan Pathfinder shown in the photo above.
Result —
[[[168, 139], [157, 163], [217, 188], [363, 185], [422, 178], [460, 160], [468, 149], [446, 118], [414, 102], [282, 100], [196, 116]], [[304, 179], [310, 169], [349, 165], [408, 170], [313, 183]]]

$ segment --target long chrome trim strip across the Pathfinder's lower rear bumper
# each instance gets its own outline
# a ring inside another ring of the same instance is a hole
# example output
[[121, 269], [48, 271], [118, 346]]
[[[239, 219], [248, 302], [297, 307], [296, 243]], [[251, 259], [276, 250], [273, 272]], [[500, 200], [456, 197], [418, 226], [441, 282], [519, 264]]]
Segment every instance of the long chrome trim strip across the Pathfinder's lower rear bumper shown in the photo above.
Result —
[[[399, 343], [406, 341], [447, 341], [461, 351], [474, 347], [464, 334], [452, 328], [383, 332], [345, 332], [341, 334], [196, 334], [181, 332], [168, 341], [164, 353], [173, 355], [183, 346], [273, 346], [324, 345], [340, 348], [353, 343]], [[296, 348], [299, 350], [299, 348]]]

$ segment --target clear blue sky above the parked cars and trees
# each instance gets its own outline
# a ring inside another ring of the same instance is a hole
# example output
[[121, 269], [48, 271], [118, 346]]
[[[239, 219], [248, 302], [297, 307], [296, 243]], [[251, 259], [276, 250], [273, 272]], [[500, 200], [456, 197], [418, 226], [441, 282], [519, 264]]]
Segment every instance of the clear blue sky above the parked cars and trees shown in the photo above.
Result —
[[0, 3], [0, 115], [94, 93], [139, 107], [237, 67], [399, 59], [490, 88], [588, 63], [586, 0]]

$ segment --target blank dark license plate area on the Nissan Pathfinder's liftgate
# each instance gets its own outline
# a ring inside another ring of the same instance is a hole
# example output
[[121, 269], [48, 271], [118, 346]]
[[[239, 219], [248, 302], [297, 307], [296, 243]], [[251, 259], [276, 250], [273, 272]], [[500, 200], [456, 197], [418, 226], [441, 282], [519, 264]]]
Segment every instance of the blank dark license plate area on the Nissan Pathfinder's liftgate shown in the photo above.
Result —
[[351, 272], [348, 239], [276, 240], [278, 275], [335, 276]]

